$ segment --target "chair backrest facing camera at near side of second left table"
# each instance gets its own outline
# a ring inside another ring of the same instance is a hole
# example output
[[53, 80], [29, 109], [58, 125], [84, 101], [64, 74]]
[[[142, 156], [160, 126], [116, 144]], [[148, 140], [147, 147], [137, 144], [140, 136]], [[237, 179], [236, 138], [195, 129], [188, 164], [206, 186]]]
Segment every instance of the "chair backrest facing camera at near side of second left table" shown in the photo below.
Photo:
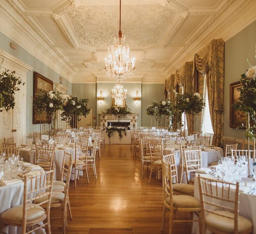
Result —
[[55, 145], [35, 145], [36, 164], [52, 170]]

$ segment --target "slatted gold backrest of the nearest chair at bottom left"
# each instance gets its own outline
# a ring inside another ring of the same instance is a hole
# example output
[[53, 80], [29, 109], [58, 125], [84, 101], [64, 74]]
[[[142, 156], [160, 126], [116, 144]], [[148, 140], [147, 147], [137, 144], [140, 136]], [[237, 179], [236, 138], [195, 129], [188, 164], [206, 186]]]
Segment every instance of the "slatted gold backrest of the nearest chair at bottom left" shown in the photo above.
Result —
[[[33, 176], [25, 176], [24, 177], [24, 191], [23, 191], [23, 214], [22, 214], [22, 233], [26, 233], [27, 229], [27, 213], [29, 209], [34, 207], [39, 207], [43, 204], [46, 204], [46, 214], [50, 216], [50, 202], [52, 197], [52, 185], [53, 185], [53, 170], [40, 173], [38, 175]], [[45, 191], [41, 193], [40, 199], [42, 201], [40, 203], [33, 203], [35, 199], [39, 197], [35, 197], [34, 194]], [[28, 206], [29, 204], [29, 206]], [[40, 225], [46, 226], [50, 225], [46, 222], [40, 223]], [[33, 229], [34, 228], [34, 229]], [[32, 233], [33, 230], [38, 229], [37, 226], [31, 227], [29, 229], [29, 233]]]

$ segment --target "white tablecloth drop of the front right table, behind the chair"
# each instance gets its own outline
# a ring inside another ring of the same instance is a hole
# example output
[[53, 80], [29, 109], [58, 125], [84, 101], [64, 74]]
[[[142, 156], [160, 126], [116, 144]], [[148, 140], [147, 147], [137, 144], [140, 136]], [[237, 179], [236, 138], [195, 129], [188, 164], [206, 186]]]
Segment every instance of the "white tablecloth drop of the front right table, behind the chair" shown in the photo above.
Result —
[[[202, 175], [203, 176], [203, 175]], [[246, 175], [244, 175], [245, 178]], [[198, 200], [200, 200], [200, 192], [198, 187], [198, 179], [197, 174], [195, 176], [195, 184], [194, 184], [194, 197]], [[234, 191], [235, 194], [235, 191]], [[255, 194], [255, 193], [254, 193]], [[244, 192], [240, 192], [240, 205], [239, 205], [239, 214], [244, 216], [245, 218], [248, 218], [252, 221], [253, 224], [253, 234], [256, 234], [256, 195], [254, 194], [248, 194]], [[232, 195], [232, 194], [231, 194]], [[213, 207], [208, 207], [209, 209], [212, 209]], [[209, 213], [206, 213], [209, 214]], [[194, 219], [196, 219], [196, 215], [194, 215]], [[199, 228], [198, 228], [198, 222], [193, 222], [193, 229], [192, 233], [199, 234]], [[207, 233], [210, 233], [207, 231]]]

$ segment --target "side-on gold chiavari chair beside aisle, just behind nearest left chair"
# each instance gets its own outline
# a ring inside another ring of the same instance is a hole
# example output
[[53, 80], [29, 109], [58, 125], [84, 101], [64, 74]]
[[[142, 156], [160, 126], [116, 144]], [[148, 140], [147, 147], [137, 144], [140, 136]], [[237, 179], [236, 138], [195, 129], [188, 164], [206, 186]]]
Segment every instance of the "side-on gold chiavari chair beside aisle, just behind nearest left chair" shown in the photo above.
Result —
[[[66, 227], [67, 227], [67, 208], [69, 209], [69, 216], [70, 219], [72, 219], [71, 209], [69, 206], [69, 197], [68, 197], [68, 190], [69, 190], [69, 181], [70, 181], [70, 175], [72, 170], [72, 155], [69, 153], [64, 152], [63, 161], [65, 161], [65, 170], [63, 170], [63, 176], [66, 177], [66, 186], [64, 188], [64, 192], [52, 192], [52, 200], [50, 202], [51, 208], [60, 208], [61, 216], [51, 216], [51, 219], [62, 219], [62, 232], [66, 233]], [[63, 165], [62, 161], [62, 165]], [[40, 204], [44, 201], [43, 198], [41, 198], [42, 193], [38, 193], [35, 197], [34, 203]], [[69, 206], [69, 207], [68, 207]], [[45, 208], [44, 205], [42, 205], [43, 208]]]

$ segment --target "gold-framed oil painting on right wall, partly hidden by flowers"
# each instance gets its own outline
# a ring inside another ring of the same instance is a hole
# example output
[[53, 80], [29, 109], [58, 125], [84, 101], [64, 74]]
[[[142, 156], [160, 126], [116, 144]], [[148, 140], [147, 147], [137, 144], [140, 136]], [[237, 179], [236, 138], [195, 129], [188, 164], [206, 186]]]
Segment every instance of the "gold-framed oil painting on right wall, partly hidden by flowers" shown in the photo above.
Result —
[[[235, 83], [231, 83], [229, 90], [230, 90], [230, 106], [229, 106], [229, 126], [230, 128], [242, 128], [242, 123], [246, 123], [246, 115], [240, 110], [235, 110], [233, 108], [233, 104], [237, 102], [238, 98], [240, 98], [240, 91], [238, 88], [242, 87], [240, 81]], [[245, 129], [245, 127], [243, 128]]]

